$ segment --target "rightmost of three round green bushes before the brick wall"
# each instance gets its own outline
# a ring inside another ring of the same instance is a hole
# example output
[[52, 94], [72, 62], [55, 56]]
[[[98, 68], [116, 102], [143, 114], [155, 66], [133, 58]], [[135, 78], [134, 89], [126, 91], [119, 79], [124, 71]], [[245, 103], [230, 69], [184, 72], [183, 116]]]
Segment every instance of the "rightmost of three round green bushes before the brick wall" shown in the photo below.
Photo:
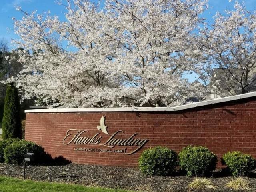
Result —
[[221, 159], [233, 176], [244, 176], [256, 168], [256, 160], [241, 151], [227, 152]]

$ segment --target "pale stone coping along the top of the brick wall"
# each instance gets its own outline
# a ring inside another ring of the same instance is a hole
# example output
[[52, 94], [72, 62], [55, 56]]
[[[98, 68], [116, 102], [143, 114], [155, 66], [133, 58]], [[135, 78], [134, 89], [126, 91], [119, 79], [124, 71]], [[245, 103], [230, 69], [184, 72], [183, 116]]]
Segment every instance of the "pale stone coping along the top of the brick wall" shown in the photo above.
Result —
[[45, 113], [45, 112], [153, 112], [153, 111], [179, 111], [199, 106], [206, 106], [227, 101], [239, 100], [256, 96], [256, 91], [246, 94], [234, 95], [229, 97], [217, 98], [196, 102], [192, 104], [180, 105], [175, 107], [112, 107], [112, 108], [54, 108], [54, 109], [30, 109], [25, 113]]

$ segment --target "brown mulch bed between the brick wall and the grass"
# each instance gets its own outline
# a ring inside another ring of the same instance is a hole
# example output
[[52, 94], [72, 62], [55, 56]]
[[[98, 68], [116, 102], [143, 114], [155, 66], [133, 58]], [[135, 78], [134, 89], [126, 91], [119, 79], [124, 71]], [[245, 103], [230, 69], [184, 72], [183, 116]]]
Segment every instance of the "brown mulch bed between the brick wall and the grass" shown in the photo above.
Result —
[[[0, 175], [23, 178], [24, 166], [0, 164]], [[216, 192], [230, 192], [225, 184], [231, 180], [230, 176], [222, 176], [215, 172], [212, 182], [218, 187]], [[29, 165], [26, 178], [32, 180], [64, 182], [86, 186], [100, 186], [148, 192], [187, 192], [187, 186], [193, 178], [187, 176], [144, 176], [138, 168], [123, 168], [109, 166], [93, 166], [68, 164], [62, 166]], [[256, 191], [256, 176], [250, 178], [250, 192]], [[191, 190], [196, 191], [196, 190]]]

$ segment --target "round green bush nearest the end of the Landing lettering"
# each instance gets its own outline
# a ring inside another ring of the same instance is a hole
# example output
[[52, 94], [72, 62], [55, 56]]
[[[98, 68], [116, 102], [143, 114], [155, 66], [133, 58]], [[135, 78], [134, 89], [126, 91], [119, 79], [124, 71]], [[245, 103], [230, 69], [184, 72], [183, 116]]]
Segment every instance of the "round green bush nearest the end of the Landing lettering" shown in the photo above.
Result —
[[177, 153], [162, 146], [144, 150], [139, 158], [139, 169], [146, 175], [169, 175], [177, 165]]

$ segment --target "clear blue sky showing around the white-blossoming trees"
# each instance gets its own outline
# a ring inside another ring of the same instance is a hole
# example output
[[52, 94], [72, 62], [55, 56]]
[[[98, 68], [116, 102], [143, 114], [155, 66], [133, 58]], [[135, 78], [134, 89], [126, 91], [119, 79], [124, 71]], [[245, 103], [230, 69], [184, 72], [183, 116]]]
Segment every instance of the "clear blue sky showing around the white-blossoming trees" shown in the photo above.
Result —
[[[97, 2], [97, 0], [93, 0]], [[234, 1], [234, 0], [233, 0]], [[212, 16], [216, 11], [223, 12], [225, 9], [233, 9], [233, 3], [228, 0], [209, 0], [209, 10], [206, 10], [204, 17], [207, 21], [212, 22]], [[244, 0], [246, 8], [250, 11], [256, 10], [256, 0]], [[16, 11], [14, 6], [21, 6], [27, 12], [37, 10], [37, 12], [44, 12], [51, 10], [54, 15], [60, 16], [64, 19], [65, 8], [55, 3], [55, 0], [0, 0], [0, 39], [4, 38], [10, 45], [11, 39], [16, 39], [18, 36], [14, 34], [12, 17], [20, 19], [22, 14]], [[10, 45], [10, 48], [14, 48]], [[187, 75], [190, 82], [196, 79], [194, 74]]]

